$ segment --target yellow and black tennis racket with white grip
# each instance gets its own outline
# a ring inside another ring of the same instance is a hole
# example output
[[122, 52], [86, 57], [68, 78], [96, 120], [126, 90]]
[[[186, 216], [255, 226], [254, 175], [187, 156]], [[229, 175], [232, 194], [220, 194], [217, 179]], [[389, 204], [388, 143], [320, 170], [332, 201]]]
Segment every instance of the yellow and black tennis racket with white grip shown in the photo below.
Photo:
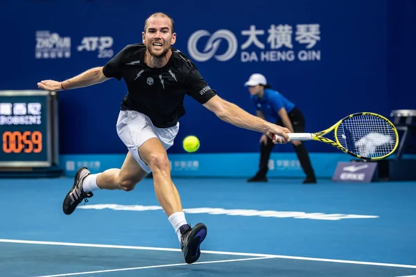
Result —
[[[334, 141], [324, 135], [333, 131]], [[395, 152], [399, 144], [397, 129], [390, 120], [372, 112], [350, 114], [317, 133], [288, 133], [293, 141], [321, 141], [353, 157], [377, 161]], [[275, 135], [275, 138], [281, 136]]]

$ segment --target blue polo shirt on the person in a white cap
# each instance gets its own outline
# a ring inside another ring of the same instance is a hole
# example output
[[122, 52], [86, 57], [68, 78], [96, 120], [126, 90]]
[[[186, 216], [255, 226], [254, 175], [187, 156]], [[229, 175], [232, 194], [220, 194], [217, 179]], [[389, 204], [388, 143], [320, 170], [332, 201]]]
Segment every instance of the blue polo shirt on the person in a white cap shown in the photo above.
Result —
[[251, 96], [257, 111], [262, 111], [267, 117], [271, 116], [276, 120], [280, 119], [277, 111], [284, 107], [288, 113], [295, 107], [293, 102], [287, 100], [279, 92], [273, 89], [264, 89], [263, 98], [257, 96]]

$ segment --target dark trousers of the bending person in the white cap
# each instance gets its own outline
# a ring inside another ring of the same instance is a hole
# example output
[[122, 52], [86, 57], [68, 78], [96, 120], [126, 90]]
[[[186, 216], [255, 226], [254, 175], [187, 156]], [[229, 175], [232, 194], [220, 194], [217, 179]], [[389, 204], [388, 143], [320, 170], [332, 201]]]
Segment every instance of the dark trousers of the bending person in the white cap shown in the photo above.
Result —
[[[290, 113], [288, 113], [288, 116], [291, 120], [293, 131], [295, 133], [305, 132], [305, 118], [299, 109], [297, 109], [296, 107], [293, 108], [293, 110]], [[276, 124], [283, 126], [281, 120], [277, 120]], [[266, 174], [268, 172], [268, 160], [270, 158], [270, 153], [272, 152], [272, 149], [275, 147], [275, 144], [272, 143], [272, 139], [270, 139], [269, 137], [267, 139], [268, 140], [266, 145], [264, 145], [263, 143], [261, 143], [260, 145], [260, 166], [259, 172], [257, 172], [257, 176], [259, 177], [266, 177]], [[297, 159], [299, 159], [300, 165], [302, 166], [302, 169], [304, 170], [306, 177], [315, 177], [315, 172], [313, 172], [311, 160], [309, 159], [309, 154], [305, 148], [304, 143], [302, 142], [298, 146], [293, 145], [293, 147], [295, 148]]]

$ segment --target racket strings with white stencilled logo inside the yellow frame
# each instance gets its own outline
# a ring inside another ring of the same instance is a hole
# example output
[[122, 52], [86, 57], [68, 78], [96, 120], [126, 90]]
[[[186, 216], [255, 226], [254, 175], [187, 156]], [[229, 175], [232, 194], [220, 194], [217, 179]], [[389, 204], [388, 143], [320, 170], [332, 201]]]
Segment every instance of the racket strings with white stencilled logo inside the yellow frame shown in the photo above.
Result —
[[395, 130], [387, 121], [367, 114], [345, 119], [336, 136], [343, 148], [367, 158], [389, 154], [397, 141]]

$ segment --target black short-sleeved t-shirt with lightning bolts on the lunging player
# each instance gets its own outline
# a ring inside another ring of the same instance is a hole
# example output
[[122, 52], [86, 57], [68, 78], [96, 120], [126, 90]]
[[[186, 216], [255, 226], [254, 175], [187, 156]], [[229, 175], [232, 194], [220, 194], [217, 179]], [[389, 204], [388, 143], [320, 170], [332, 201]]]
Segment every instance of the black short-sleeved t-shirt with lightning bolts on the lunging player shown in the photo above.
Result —
[[185, 114], [185, 94], [204, 104], [216, 95], [187, 56], [172, 48], [168, 63], [159, 69], [144, 64], [144, 44], [125, 46], [107, 62], [107, 78], [124, 79], [128, 94], [121, 109], [139, 111], [159, 128], [175, 126]]

